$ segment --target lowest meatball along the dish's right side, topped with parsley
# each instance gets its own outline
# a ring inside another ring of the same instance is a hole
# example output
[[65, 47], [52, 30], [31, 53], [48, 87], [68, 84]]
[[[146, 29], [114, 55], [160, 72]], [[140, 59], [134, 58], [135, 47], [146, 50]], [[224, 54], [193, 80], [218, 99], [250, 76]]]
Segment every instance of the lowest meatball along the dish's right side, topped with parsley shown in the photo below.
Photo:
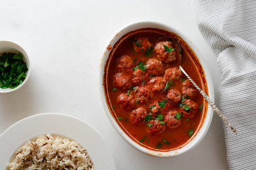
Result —
[[183, 112], [183, 115], [185, 117], [191, 118], [196, 115], [198, 111], [198, 106], [194, 101], [190, 99], [185, 99], [180, 110], [181, 112]]

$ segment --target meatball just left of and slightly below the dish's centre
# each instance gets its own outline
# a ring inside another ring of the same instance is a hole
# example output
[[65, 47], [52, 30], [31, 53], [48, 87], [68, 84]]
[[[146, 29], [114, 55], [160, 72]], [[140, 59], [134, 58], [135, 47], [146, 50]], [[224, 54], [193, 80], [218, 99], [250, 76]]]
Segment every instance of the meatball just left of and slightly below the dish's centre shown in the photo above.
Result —
[[147, 102], [152, 97], [152, 93], [145, 87], [136, 87], [136, 90], [131, 92], [134, 96], [135, 101], [139, 100], [141, 103]]

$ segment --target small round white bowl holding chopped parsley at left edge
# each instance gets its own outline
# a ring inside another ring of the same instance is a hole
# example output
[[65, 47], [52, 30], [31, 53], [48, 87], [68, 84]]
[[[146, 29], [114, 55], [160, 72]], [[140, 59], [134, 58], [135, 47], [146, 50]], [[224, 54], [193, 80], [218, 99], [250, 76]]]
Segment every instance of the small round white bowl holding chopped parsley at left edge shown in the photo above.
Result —
[[25, 50], [19, 46], [18, 44], [16, 44], [15, 42], [12, 41], [6, 41], [6, 40], [0, 40], [0, 54], [2, 53], [22, 53], [23, 54], [23, 61], [24, 63], [27, 64], [27, 72], [26, 72], [26, 78], [24, 79], [22, 84], [19, 84], [18, 87], [16, 88], [0, 88], [0, 93], [7, 93], [7, 92], [11, 92], [11, 91], [15, 91], [18, 90], [20, 87], [24, 86], [24, 84], [27, 82], [28, 77], [30, 75], [30, 59], [27, 56], [27, 53], [25, 52]]

